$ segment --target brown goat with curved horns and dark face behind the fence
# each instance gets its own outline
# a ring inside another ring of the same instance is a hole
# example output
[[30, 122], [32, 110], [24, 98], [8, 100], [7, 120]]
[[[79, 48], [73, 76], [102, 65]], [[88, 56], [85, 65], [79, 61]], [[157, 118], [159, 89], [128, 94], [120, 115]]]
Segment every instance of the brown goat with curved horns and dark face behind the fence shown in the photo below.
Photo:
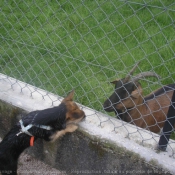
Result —
[[166, 120], [175, 84], [163, 86], [143, 97], [139, 79], [159, 76], [153, 72], [143, 72], [131, 78], [137, 66], [138, 63], [127, 77], [111, 82], [115, 84], [115, 91], [103, 107], [107, 112], [115, 112], [123, 121], [159, 133]]

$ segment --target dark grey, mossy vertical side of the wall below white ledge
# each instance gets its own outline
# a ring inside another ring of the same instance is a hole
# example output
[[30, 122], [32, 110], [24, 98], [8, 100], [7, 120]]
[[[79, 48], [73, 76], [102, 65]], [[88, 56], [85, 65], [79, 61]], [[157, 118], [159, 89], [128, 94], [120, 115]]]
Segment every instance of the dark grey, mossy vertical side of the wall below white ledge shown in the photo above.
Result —
[[[27, 111], [0, 101], [0, 136], [3, 137], [25, 113]], [[81, 129], [55, 143], [39, 139], [26, 153], [66, 174], [164, 174], [163, 169], [152, 165], [153, 162], [149, 164], [138, 154], [104, 142]]]

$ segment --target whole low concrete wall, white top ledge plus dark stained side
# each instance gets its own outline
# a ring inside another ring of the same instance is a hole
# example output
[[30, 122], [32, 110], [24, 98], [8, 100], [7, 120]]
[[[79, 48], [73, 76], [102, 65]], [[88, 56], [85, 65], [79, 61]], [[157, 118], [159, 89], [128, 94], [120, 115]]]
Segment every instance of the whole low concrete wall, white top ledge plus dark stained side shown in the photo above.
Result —
[[[62, 97], [2, 74], [0, 75], [0, 89], [0, 99], [18, 107], [12, 106], [12, 110], [7, 107], [9, 113], [14, 115], [6, 115], [8, 112], [4, 113], [5, 103], [1, 102], [1, 122], [7, 118], [9, 121], [9, 116], [11, 116], [10, 125], [1, 129], [2, 134], [4, 134], [2, 130], [9, 130], [11, 125], [19, 119], [18, 114], [21, 112], [56, 106], [62, 100]], [[5, 106], [8, 105], [5, 104]], [[172, 157], [175, 150], [174, 141], [170, 141], [167, 152], [157, 153], [154, 147], [159, 139], [158, 135], [85, 106], [82, 107], [87, 119], [80, 124], [77, 132], [67, 134], [54, 144], [38, 140], [35, 147], [28, 149], [28, 153], [61, 171], [66, 171], [67, 174], [99, 173], [88, 173], [90, 170], [101, 171], [102, 174], [115, 174], [112, 171], [116, 171], [116, 174], [120, 171], [125, 174], [132, 172], [163, 174], [163, 171], [175, 174], [175, 161]], [[14, 109], [18, 112], [14, 113]]]

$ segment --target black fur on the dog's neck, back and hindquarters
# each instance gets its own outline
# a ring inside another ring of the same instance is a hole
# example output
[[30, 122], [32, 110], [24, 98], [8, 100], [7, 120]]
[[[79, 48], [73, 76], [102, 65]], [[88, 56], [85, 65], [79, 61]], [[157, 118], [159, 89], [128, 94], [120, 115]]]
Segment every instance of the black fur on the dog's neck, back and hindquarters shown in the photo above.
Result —
[[[29, 132], [37, 138], [50, 141], [56, 131], [66, 128], [66, 106], [61, 103], [58, 107], [33, 111], [22, 118], [24, 126], [29, 124], [51, 126], [52, 130], [32, 127]], [[4, 174], [17, 174], [17, 164], [20, 154], [30, 146], [31, 136], [20, 132], [21, 126], [18, 122], [4, 137], [0, 143], [0, 172]]]

